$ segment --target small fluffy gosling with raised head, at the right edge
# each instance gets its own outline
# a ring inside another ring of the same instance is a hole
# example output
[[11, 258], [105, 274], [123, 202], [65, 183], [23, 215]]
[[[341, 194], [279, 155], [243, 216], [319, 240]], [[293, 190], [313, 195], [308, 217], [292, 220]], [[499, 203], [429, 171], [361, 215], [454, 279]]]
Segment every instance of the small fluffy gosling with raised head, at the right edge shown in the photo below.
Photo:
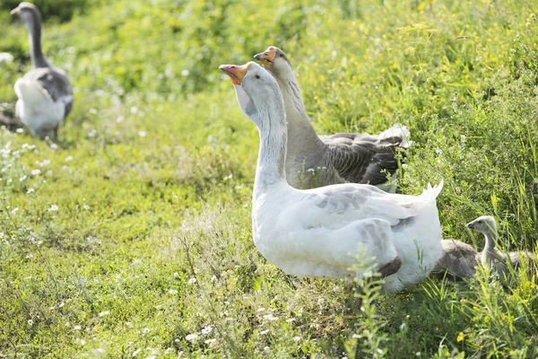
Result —
[[496, 241], [499, 240], [499, 232], [497, 232], [495, 218], [490, 215], [482, 215], [473, 222], [467, 223], [466, 227], [484, 235], [486, 244], [481, 254], [482, 265], [484, 267], [489, 266], [492, 270], [495, 270], [503, 284], [507, 283], [509, 276], [508, 261], [510, 261], [514, 270], [521, 267], [522, 258], [529, 260], [529, 269], [533, 267], [534, 255], [532, 253], [509, 252], [507, 256], [495, 248]]

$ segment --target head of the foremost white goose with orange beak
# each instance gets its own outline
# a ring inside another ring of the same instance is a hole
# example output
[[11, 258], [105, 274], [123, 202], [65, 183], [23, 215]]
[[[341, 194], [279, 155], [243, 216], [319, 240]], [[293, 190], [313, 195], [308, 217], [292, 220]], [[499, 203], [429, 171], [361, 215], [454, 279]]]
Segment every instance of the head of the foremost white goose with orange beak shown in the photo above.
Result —
[[230, 76], [239, 107], [257, 127], [269, 125], [262, 121], [266, 118], [280, 118], [285, 126], [282, 93], [276, 80], [262, 66], [251, 61], [242, 66], [221, 65], [219, 68]]

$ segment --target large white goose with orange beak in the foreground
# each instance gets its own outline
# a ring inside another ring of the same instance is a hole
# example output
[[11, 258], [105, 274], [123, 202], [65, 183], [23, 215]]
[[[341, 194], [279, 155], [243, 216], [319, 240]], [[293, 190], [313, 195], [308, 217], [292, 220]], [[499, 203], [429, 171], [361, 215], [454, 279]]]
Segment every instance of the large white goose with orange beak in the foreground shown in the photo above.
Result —
[[388, 293], [428, 276], [441, 255], [436, 197], [442, 182], [421, 196], [355, 183], [292, 188], [286, 181], [286, 114], [276, 80], [254, 62], [220, 68], [260, 136], [252, 198], [257, 250], [288, 274], [325, 278], [360, 276], [350, 267], [361, 252], [375, 258], [377, 268], [390, 268], [382, 273]]

